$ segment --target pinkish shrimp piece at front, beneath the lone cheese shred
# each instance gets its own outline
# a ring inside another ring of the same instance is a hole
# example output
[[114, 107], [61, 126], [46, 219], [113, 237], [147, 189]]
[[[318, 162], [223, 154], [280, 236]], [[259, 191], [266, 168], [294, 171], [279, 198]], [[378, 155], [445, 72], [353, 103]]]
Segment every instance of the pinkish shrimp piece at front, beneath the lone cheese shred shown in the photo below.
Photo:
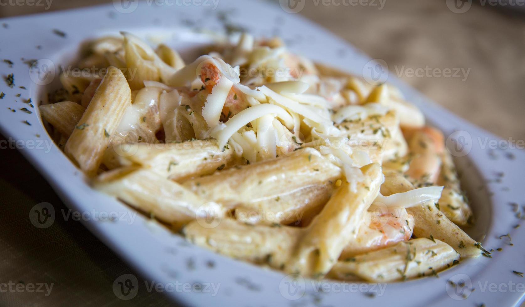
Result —
[[339, 259], [385, 248], [412, 237], [414, 217], [403, 207], [388, 208], [382, 213], [367, 211], [363, 218], [357, 239], [344, 248]]

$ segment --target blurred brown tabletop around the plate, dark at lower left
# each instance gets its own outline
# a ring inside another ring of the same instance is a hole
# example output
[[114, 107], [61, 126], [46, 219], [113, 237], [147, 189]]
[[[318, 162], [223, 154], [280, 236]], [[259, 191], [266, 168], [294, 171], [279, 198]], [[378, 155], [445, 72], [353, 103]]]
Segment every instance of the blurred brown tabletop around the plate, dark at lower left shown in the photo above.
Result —
[[[219, 0], [218, 9], [222, 1], [227, 2]], [[384, 60], [391, 73], [460, 117], [508, 141], [525, 140], [524, 7], [480, 0], [262, 1], [295, 7], [297, 14]], [[47, 0], [43, 3], [49, 6], [31, 6], [6, 0], [0, 2], [0, 17], [111, 2]], [[134, 272], [79, 222], [57, 219], [46, 231], [31, 226], [27, 211], [34, 204], [67, 208], [15, 150], [4, 150], [2, 157], [0, 277], [18, 283], [45, 278], [55, 288], [46, 300], [30, 293], [2, 293], [0, 305], [120, 305], [113, 281]], [[132, 303], [169, 301], [140, 289]]]

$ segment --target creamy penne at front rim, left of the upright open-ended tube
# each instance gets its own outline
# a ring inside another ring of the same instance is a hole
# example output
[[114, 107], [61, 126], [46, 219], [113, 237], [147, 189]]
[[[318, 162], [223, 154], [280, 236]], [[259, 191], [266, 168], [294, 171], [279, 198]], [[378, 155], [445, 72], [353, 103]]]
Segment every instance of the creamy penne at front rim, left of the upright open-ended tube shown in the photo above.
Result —
[[186, 225], [183, 234], [193, 244], [223, 255], [254, 263], [267, 263], [283, 268], [301, 228], [272, 225], [251, 225], [223, 219], [213, 228], [199, 221]]

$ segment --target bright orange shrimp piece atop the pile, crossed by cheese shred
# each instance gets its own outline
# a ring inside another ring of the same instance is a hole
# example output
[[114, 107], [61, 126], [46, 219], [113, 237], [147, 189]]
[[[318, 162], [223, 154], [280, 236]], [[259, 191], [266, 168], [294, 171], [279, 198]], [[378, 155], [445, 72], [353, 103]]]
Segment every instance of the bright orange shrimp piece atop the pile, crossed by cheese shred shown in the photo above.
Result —
[[[218, 67], [213, 65], [213, 63], [207, 63], [206, 65], [202, 66], [201, 81], [204, 83], [204, 89], [208, 94], [212, 93], [213, 87], [215, 87], [221, 78], [225, 77], [222, 76], [222, 73], [220, 73]], [[223, 119], [227, 120], [232, 115], [235, 115], [248, 107], [249, 103], [246, 95], [238, 90], [234, 84], [232, 89], [230, 89], [228, 97], [224, 103], [224, 108], [222, 111]]]

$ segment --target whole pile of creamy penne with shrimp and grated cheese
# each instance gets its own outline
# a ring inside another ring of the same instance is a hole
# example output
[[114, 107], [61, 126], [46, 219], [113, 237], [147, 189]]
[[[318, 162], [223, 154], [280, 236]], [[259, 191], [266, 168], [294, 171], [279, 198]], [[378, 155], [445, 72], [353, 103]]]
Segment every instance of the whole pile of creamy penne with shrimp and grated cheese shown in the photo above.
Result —
[[97, 39], [92, 73], [63, 73], [40, 112], [93, 187], [236, 259], [386, 282], [489, 256], [459, 228], [472, 212], [443, 134], [395, 87], [277, 38], [208, 51]]

